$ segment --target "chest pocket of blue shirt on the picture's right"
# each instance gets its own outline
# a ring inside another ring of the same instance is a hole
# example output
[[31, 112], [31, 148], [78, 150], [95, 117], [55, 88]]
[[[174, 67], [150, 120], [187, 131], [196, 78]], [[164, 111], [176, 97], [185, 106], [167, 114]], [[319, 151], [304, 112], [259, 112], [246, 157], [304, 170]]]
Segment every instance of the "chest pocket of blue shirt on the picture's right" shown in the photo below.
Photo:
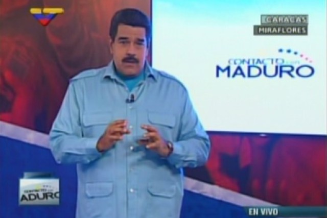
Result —
[[161, 137], [166, 140], [174, 140], [176, 117], [173, 114], [164, 114], [157, 112], [148, 112], [148, 121], [160, 133]]

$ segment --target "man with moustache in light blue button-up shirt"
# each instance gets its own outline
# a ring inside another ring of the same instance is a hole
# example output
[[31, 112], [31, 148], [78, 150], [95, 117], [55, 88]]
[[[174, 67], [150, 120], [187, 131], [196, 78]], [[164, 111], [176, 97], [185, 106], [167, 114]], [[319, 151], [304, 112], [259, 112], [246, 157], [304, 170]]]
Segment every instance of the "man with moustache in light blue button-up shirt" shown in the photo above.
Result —
[[179, 217], [182, 167], [203, 165], [209, 139], [188, 92], [146, 62], [147, 16], [114, 14], [108, 66], [74, 77], [50, 133], [57, 162], [77, 163], [77, 217]]

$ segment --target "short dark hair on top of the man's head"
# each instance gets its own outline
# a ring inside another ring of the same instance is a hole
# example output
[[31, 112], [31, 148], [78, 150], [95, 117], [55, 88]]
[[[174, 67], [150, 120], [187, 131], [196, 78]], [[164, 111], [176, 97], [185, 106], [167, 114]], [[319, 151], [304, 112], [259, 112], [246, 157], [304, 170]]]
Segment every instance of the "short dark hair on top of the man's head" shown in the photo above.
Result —
[[134, 8], [126, 8], [117, 11], [111, 18], [110, 22], [109, 35], [112, 41], [117, 35], [118, 26], [120, 24], [145, 28], [147, 46], [149, 46], [151, 40], [151, 23], [146, 14]]

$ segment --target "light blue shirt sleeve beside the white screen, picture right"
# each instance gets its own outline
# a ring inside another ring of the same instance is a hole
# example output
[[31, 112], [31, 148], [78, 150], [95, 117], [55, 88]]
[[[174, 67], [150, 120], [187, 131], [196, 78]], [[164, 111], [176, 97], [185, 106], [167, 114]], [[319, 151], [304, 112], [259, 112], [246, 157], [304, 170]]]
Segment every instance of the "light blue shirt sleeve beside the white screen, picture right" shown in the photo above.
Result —
[[181, 110], [181, 125], [178, 140], [168, 161], [175, 167], [197, 167], [204, 165], [211, 147], [209, 137], [203, 129], [187, 91], [184, 93]]

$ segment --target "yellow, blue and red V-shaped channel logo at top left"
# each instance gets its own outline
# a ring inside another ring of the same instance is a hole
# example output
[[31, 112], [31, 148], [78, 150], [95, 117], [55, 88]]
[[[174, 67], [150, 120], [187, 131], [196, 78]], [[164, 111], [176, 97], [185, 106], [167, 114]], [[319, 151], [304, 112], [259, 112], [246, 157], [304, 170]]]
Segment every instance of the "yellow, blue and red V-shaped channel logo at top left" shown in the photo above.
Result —
[[41, 23], [42, 26], [48, 26], [58, 14], [63, 14], [63, 8], [31, 8], [30, 13]]

